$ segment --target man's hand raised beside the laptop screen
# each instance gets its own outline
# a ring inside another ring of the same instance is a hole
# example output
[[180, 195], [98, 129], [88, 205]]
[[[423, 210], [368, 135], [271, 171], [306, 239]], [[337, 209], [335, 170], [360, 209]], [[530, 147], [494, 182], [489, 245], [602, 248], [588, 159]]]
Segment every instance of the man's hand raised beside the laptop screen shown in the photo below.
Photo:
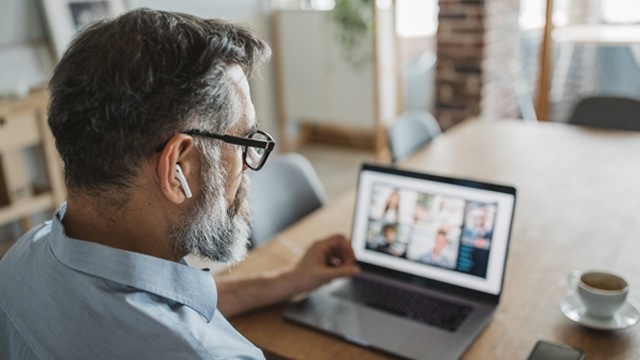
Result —
[[309, 291], [330, 280], [360, 272], [351, 244], [342, 235], [313, 243], [293, 269], [300, 291]]

